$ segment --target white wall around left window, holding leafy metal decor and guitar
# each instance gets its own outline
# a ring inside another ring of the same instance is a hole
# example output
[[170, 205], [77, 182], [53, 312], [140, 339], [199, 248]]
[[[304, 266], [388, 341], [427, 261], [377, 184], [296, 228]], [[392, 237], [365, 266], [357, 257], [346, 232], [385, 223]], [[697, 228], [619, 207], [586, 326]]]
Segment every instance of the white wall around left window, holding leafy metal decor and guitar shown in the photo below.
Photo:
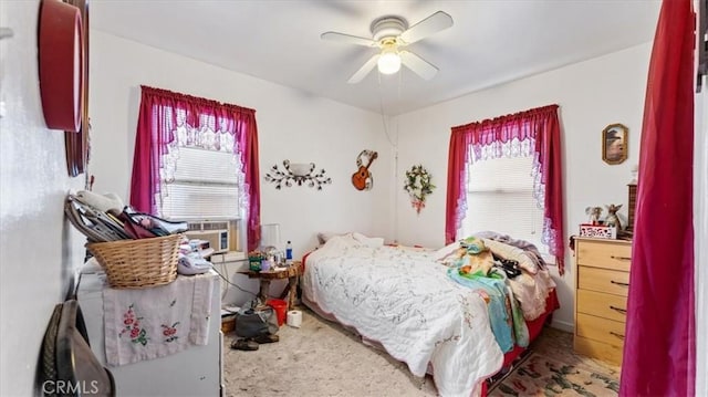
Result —
[[[140, 85], [207, 97], [257, 111], [261, 171], [261, 222], [280, 223], [282, 248], [295, 257], [315, 247], [319, 231], [358, 230], [391, 236], [387, 228], [391, 144], [381, 115], [314, 97], [192, 59], [91, 31], [91, 164], [94, 191], [128, 199]], [[375, 98], [373, 98], [375, 100]], [[369, 170], [374, 189], [351, 184], [363, 149], [379, 153]], [[332, 178], [321, 191], [283, 187], [263, 177], [282, 160], [315, 163]], [[243, 276], [240, 276], [243, 278]], [[243, 281], [251, 291], [256, 281]], [[241, 283], [239, 283], [241, 284]]]

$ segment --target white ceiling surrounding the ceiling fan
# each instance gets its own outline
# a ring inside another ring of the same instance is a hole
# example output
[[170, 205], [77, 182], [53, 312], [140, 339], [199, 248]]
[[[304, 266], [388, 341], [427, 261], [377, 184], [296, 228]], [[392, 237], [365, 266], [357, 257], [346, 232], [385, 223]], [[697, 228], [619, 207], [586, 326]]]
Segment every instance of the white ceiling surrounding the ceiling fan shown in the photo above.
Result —
[[[94, 0], [90, 23], [225, 69], [397, 115], [511, 80], [652, 41], [659, 0]], [[371, 38], [378, 17], [410, 25], [441, 10], [452, 28], [410, 44], [435, 64], [429, 81], [406, 67], [346, 81], [375, 49], [323, 41]], [[583, 76], [577, 76], [583, 79]]]

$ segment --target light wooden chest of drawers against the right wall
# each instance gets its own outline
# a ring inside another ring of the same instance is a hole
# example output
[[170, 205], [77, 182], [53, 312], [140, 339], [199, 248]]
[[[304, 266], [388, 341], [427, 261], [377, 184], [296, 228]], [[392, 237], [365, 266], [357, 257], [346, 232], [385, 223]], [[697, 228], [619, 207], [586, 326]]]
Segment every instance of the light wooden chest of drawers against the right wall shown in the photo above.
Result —
[[575, 239], [575, 352], [622, 365], [632, 242]]

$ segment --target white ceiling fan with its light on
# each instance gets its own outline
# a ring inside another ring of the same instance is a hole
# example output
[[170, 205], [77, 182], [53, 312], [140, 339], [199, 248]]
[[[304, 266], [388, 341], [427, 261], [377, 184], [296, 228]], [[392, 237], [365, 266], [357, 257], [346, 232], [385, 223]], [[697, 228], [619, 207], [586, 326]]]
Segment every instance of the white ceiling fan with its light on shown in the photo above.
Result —
[[394, 74], [400, 70], [402, 64], [420, 77], [430, 80], [438, 72], [438, 69], [413, 52], [404, 50], [404, 48], [451, 25], [452, 17], [442, 11], [435, 12], [410, 28], [408, 28], [408, 22], [405, 19], [396, 15], [386, 15], [372, 22], [372, 39], [339, 32], [325, 32], [320, 38], [322, 40], [378, 48], [381, 50], [350, 77], [347, 81], [350, 84], [361, 82], [375, 66], [378, 66], [378, 71], [383, 74]]

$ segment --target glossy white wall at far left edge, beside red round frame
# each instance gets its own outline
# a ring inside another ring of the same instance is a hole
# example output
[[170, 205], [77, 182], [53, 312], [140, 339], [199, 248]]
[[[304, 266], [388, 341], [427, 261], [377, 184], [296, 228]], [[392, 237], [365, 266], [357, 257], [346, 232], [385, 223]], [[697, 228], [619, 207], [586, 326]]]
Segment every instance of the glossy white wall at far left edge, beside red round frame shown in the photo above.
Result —
[[31, 396], [44, 330], [82, 263], [83, 236], [64, 220], [64, 133], [44, 124], [39, 93], [39, 0], [0, 1], [0, 396]]

